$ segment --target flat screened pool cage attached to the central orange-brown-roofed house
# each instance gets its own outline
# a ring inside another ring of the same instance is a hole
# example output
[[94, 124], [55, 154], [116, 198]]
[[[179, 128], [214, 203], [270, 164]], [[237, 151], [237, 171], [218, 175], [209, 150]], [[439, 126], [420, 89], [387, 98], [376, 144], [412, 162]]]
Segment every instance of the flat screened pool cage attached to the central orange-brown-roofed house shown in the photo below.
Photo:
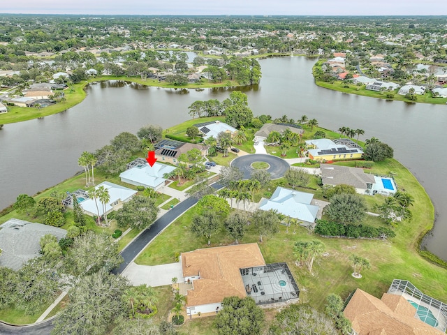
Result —
[[299, 299], [300, 289], [285, 262], [240, 269], [247, 296], [256, 304]]

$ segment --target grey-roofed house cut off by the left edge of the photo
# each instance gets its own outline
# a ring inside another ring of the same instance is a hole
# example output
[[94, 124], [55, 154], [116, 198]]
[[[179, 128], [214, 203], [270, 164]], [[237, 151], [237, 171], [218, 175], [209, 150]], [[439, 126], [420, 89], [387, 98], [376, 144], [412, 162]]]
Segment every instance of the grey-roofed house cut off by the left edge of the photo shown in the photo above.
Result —
[[51, 225], [11, 218], [0, 225], [0, 267], [17, 271], [28, 260], [41, 255], [39, 242], [43, 236], [52, 234], [59, 240], [66, 233], [66, 230]]

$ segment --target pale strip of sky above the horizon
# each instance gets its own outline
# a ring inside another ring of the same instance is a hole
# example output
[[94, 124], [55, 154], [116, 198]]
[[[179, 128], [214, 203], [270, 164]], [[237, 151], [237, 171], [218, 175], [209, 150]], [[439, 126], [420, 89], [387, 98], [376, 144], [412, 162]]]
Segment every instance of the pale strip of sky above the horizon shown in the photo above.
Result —
[[446, 0], [1, 0], [0, 13], [90, 15], [447, 15]]

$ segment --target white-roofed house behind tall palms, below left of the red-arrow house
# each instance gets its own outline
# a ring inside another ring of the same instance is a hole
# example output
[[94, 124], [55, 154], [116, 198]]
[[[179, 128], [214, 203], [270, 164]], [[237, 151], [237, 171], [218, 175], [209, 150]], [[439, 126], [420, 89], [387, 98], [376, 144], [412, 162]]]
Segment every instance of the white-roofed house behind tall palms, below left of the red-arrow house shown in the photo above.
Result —
[[[104, 188], [108, 191], [110, 200], [108, 204], [105, 204], [105, 213], [110, 213], [114, 209], [117, 204], [121, 204], [122, 202], [126, 202], [130, 200], [137, 191], [131, 190], [130, 188], [126, 188], [121, 185], [113, 184], [108, 181], [103, 181], [101, 184], [95, 186], [96, 189], [104, 186]], [[96, 209], [96, 203], [98, 204], [98, 209]], [[99, 199], [95, 200], [93, 198], [89, 198], [80, 202], [80, 207], [85, 210], [85, 212], [89, 215], [104, 215], [103, 204]]]

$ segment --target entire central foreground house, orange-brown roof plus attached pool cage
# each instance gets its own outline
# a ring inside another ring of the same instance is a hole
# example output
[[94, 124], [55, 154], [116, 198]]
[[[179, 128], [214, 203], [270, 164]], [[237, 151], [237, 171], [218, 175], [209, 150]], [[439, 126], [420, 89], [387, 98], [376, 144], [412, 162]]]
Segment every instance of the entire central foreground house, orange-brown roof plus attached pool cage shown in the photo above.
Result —
[[[256, 304], [298, 299], [286, 263], [266, 265], [258, 244], [237, 244], [182, 253], [186, 313], [218, 313], [224, 297], [251, 297]], [[210, 315], [210, 314], [208, 314]]]

